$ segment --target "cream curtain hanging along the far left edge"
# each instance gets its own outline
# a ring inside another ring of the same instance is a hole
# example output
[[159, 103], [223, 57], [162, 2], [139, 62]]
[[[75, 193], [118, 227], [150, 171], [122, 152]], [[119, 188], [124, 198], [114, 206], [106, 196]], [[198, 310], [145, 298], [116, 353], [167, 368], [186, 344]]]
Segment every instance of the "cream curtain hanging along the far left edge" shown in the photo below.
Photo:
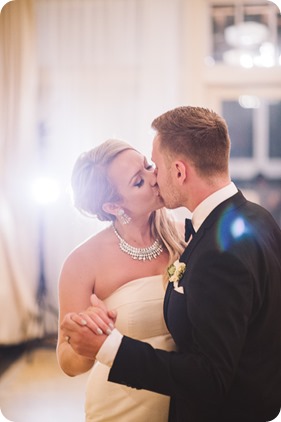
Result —
[[32, 0], [0, 15], [0, 344], [38, 337], [36, 214], [28, 178], [36, 125], [35, 22]]

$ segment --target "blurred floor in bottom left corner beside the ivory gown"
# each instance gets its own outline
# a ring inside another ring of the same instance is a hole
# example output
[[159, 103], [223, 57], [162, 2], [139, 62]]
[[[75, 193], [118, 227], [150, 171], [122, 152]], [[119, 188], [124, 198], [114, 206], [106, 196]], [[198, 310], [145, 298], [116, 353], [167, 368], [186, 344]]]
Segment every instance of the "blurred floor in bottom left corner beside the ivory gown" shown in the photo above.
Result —
[[56, 339], [1, 347], [0, 421], [84, 422], [88, 373], [68, 377], [58, 365]]

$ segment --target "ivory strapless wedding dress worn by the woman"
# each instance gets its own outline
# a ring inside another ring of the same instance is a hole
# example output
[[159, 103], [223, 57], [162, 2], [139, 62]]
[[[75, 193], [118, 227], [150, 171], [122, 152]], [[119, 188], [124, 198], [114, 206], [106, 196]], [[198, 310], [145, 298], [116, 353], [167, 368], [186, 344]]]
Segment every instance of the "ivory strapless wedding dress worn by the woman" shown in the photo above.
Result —
[[[153, 347], [174, 350], [163, 318], [162, 276], [130, 281], [104, 302], [118, 312], [116, 327]], [[109, 368], [96, 362], [86, 390], [87, 422], [167, 422], [170, 398], [107, 381]]]

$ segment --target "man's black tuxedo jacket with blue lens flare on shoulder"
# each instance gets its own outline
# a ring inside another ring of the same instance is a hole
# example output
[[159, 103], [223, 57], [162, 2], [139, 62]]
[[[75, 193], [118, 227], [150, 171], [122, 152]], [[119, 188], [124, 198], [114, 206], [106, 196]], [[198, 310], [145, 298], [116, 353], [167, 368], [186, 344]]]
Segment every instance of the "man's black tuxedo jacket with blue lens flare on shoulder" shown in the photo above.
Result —
[[281, 231], [241, 192], [180, 258], [164, 313], [176, 352], [124, 337], [109, 381], [171, 396], [172, 422], [265, 422], [281, 406]]

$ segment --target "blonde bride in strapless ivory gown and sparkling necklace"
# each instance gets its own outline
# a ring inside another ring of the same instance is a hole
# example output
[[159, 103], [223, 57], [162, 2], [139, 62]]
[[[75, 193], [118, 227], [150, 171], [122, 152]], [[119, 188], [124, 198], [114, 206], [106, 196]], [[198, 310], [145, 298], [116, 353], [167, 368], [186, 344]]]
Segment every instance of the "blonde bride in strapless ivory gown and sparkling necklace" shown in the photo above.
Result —
[[[90, 371], [87, 422], [167, 422], [169, 397], [108, 382], [109, 368], [94, 356], [75, 353], [63, 326], [66, 321], [75, 325], [72, 314], [88, 308], [95, 293], [108, 309], [116, 310], [115, 325], [124, 335], [173, 350], [163, 297], [167, 266], [184, 249], [181, 228], [163, 209], [153, 167], [123, 141], [107, 140], [83, 153], [73, 169], [72, 189], [79, 211], [110, 224], [75, 248], [63, 264], [59, 364], [69, 376]], [[102, 333], [98, 326], [96, 330]]]

